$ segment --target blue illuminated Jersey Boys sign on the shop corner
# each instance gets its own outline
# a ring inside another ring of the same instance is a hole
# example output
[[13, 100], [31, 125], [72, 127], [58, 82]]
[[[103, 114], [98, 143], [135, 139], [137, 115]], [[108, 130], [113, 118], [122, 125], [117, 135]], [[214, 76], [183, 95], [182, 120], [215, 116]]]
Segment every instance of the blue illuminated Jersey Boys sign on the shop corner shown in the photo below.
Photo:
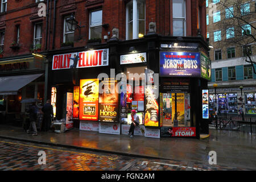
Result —
[[200, 77], [200, 52], [160, 52], [160, 76]]

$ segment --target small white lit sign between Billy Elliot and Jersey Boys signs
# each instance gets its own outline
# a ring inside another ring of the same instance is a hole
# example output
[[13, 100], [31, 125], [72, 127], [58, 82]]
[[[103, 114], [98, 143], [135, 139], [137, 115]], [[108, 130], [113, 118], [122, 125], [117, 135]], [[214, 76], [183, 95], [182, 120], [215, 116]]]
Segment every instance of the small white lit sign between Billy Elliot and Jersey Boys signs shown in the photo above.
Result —
[[132, 53], [129, 55], [120, 56], [120, 64], [146, 63], [147, 53]]

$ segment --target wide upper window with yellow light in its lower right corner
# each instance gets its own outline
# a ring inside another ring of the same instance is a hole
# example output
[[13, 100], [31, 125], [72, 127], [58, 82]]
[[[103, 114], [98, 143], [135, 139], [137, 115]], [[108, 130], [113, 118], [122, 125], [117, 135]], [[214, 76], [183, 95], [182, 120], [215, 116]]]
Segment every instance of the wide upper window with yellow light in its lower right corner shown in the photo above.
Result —
[[138, 39], [145, 35], [146, 6], [144, 0], [132, 0], [126, 5], [126, 39]]

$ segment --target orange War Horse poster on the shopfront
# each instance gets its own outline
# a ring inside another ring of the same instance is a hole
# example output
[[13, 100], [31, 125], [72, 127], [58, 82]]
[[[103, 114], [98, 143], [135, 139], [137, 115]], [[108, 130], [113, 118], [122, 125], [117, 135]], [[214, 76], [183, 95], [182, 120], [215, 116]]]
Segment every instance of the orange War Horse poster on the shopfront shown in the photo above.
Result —
[[101, 122], [118, 122], [118, 92], [115, 92], [117, 80], [104, 80], [103, 93], [99, 94], [99, 118]]

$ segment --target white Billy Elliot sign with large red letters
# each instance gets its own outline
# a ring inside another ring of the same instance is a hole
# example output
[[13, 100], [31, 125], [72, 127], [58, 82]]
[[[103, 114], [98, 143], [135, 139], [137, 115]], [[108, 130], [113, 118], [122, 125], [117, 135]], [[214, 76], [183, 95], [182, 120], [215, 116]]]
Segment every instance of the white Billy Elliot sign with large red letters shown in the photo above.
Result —
[[[74, 64], [75, 55], [79, 55], [77, 64]], [[72, 59], [71, 59], [72, 58]], [[102, 67], [109, 65], [109, 49], [97, 49], [84, 52], [72, 52], [54, 55], [52, 70], [75, 68]]]

